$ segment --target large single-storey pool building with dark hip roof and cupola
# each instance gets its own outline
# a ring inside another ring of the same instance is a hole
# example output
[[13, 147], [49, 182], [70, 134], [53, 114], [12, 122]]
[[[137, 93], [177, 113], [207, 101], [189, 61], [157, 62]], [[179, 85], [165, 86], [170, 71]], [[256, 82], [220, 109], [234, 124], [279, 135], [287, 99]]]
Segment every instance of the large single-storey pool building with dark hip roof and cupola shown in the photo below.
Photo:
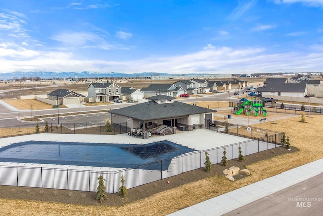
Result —
[[152, 124], [164, 124], [191, 131], [194, 125], [205, 127], [205, 121], [213, 120], [211, 109], [198, 107], [178, 101], [174, 97], [156, 95], [147, 98], [149, 102], [140, 103], [109, 111], [113, 124], [128, 128], [145, 129]]

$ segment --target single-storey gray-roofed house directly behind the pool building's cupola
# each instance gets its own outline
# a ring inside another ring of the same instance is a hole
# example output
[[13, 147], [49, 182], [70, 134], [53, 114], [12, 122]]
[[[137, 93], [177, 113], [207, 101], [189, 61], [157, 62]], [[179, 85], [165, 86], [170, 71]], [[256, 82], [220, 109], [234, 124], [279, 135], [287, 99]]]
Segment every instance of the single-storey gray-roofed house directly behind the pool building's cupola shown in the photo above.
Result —
[[151, 84], [149, 87], [141, 89], [145, 93], [145, 98], [155, 95], [167, 95], [171, 97], [179, 97], [185, 93], [185, 89], [177, 87], [175, 84]]

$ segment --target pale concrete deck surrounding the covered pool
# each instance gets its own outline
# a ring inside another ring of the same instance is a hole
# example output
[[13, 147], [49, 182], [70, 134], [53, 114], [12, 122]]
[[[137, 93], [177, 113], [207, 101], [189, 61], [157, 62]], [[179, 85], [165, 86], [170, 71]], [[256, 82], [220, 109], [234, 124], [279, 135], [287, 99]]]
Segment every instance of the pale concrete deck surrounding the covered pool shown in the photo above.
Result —
[[[57, 142], [77, 142], [77, 143], [120, 143], [120, 144], [147, 144], [163, 140], [168, 140], [179, 145], [186, 146], [195, 150], [207, 150], [232, 143], [243, 142], [246, 139], [233, 135], [217, 133], [208, 129], [196, 129], [194, 131], [178, 131], [176, 134], [170, 135], [154, 135], [149, 139], [136, 138], [129, 136], [127, 133], [118, 135], [86, 135], [86, 134], [51, 134], [40, 133], [23, 136], [15, 136], [0, 139], [0, 147], [4, 147], [13, 143], [23, 141], [57, 141]], [[114, 171], [120, 168], [108, 167], [79, 167], [71, 165], [57, 165], [57, 164], [30, 164], [30, 163], [14, 163], [14, 162], [0, 162], [0, 165], [8, 166], [44, 166], [49, 168], [70, 168], [70, 169], [92, 169], [92, 170], [106, 170]]]

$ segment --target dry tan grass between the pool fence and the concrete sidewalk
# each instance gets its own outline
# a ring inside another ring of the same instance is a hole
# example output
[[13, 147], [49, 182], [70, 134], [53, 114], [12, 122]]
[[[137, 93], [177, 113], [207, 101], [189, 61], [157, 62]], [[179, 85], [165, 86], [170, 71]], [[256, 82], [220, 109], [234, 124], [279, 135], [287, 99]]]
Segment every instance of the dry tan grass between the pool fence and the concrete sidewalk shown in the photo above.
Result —
[[229, 182], [223, 176], [213, 176], [123, 206], [100, 206], [99, 203], [95, 206], [87, 206], [16, 199], [0, 199], [0, 206], [3, 214], [6, 215], [166, 215], [322, 158], [323, 116], [306, 116], [305, 120], [307, 123], [301, 123], [299, 122], [300, 116], [297, 116], [278, 120], [277, 124], [266, 122], [256, 125], [260, 128], [285, 131], [290, 138], [291, 145], [300, 151], [251, 164], [247, 168], [252, 176], [235, 182]]

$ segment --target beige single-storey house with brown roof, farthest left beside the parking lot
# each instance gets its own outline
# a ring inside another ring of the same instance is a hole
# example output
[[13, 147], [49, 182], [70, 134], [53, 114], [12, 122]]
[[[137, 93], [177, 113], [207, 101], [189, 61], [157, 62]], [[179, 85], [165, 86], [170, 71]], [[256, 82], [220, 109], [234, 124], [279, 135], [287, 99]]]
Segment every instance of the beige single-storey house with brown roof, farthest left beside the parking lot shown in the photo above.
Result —
[[84, 95], [69, 89], [57, 89], [47, 94], [49, 100], [57, 101], [59, 105], [80, 104]]

